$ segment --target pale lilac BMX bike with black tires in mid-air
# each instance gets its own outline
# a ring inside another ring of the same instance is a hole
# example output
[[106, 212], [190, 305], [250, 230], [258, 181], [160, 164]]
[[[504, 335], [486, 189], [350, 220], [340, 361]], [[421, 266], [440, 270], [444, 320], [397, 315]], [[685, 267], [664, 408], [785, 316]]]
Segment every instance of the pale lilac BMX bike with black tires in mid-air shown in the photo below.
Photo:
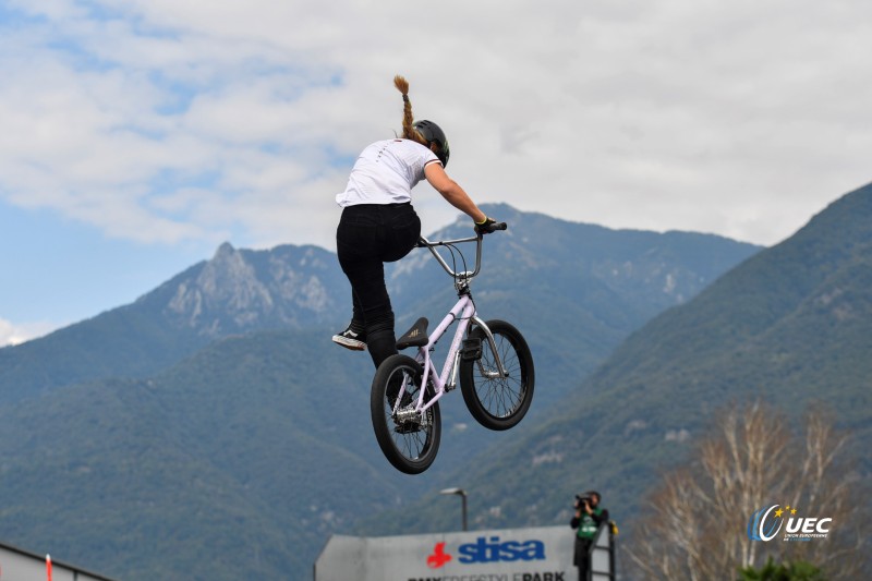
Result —
[[[506, 230], [505, 223], [494, 230]], [[457, 244], [475, 242], [475, 267], [467, 270]], [[431, 242], [421, 238], [417, 247], [427, 249], [453, 278], [457, 304], [432, 332], [428, 320], [419, 318], [397, 340], [397, 349], [415, 348], [415, 356], [391, 355], [378, 366], [373, 379], [370, 408], [378, 446], [401, 472], [420, 474], [433, 464], [441, 437], [439, 400], [457, 387], [472, 416], [489, 429], [508, 429], [520, 422], [533, 399], [533, 356], [523, 336], [511, 324], [483, 320], [472, 299], [470, 282], [482, 265], [483, 235]], [[453, 264], [437, 251], [447, 247]], [[462, 271], [457, 270], [458, 256]], [[437, 341], [457, 323], [441, 374], [432, 358]]]

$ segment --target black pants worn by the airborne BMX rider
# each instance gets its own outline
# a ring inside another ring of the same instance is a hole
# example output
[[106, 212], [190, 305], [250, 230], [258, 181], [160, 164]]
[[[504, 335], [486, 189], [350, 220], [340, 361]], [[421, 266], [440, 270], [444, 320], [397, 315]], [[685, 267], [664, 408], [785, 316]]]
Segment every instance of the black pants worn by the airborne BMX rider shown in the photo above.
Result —
[[349, 206], [336, 230], [339, 265], [351, 282], [353, 320], [366, 329], [366, 348], [376, 368], [397, 353], [384, 263], [409, 254], [420, 235], [421, 220], [411, 204]]

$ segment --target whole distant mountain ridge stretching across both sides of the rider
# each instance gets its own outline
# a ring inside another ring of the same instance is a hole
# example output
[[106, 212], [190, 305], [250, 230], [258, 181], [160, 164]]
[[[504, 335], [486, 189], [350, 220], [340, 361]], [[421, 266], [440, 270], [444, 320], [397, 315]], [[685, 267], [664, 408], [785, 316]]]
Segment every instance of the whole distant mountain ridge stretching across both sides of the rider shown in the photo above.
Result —
[[[555, 375], [589, 373], [630, 331], [759, 250], [714, 235], [616, 231], [484, 207], [511, 226], [487, 239], [476, 298], [485, 316], [517, 314], [513, 320], [530, 328], [529, 340]], [[459, 219], [434, 235], [470, 233], [468, 220]], [[428, 253], [413, 252], [387, 269], [398, 328], [421, 315], [440, 319], [453, 298], [450, 279]], [[538, 301], [530, 300], [534, 293]], [[101, 377], [146, 378], [214, 340], [245, 332], [318, 328], [329, 336], [348, 323], [350, 302], [328, 251], [226, 243], [133, 304], [0, 349], [0, 403]], [[581, 349], [567, 347], [579, 341]], [[560, 367], [562, 361], [572, 366]]]

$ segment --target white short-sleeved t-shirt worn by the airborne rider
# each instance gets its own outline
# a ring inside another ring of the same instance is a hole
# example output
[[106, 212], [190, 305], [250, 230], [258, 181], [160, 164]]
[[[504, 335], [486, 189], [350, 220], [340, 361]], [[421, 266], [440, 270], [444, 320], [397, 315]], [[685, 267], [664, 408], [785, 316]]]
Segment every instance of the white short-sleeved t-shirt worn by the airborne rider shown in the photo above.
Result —
[[402, 204], [412, 201], [412, 187], [424, 179], [424, 168], [439, 158], [417, 142], [385, 140], [358, 157], [346, 191], [337, 194], [341, 207], [358, 204]]

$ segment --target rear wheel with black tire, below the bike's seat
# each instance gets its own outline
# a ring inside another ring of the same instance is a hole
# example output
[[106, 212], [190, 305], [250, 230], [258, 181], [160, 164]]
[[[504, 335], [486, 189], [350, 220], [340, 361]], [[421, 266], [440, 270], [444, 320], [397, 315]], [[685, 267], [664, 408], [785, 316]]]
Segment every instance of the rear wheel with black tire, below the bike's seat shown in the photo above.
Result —
[[[424, 412], [424, 426], [421, 425], [420, 414], [416, 420], [404, 422], [393, 414], [400, 384], [405, 385], [408, 394], [408, 397], [403, 395], [401, 402], [417, 402], [421, 375], [421, 364], [415, 360], [408, 355], [391, 355], [378, 366], [370, 397], [375, 439], [393, 468], [407, 474], [420, 474], [429, 468], [436, 459], [441, 436], [438, 401]], [[427, 397], [432, 396], [433, 389], [427, 388]]]

